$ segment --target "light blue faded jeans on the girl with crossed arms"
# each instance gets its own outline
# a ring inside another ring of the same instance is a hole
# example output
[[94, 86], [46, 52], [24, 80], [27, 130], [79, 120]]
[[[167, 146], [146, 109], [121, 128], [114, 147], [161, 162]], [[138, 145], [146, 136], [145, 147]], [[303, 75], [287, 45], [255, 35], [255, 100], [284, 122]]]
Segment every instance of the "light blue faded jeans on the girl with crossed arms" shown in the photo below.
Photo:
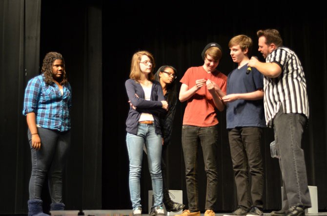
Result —
[[127, 133], [126, 144], [129, 156], [129, 192], [133, 209], [141, 206], [140, 178], [143, 145], [147, 151], [149, 171], [154, 196], [153, 206], [163, 205], [163, 178], [161, 174], [162, 137], [156, 134], [154, 125], [139, 124], [137, 135]]

